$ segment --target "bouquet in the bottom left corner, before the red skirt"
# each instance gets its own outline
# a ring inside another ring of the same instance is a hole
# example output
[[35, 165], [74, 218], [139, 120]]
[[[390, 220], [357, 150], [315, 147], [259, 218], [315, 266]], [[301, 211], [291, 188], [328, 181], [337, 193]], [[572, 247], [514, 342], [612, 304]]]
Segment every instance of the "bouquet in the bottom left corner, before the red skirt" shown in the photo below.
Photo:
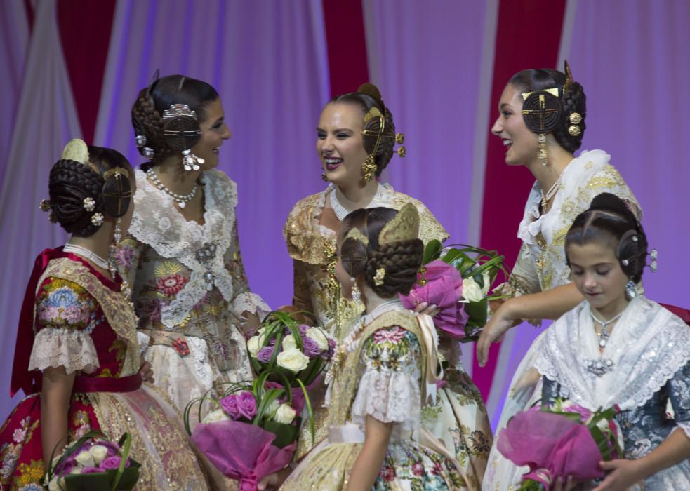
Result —
[[139, 480], [140, 464], [129, 458], [130, 446], [129, 433], [115, 444], [99, 431], [89, 431], [48, 466], [48, 490], [131, 490]]

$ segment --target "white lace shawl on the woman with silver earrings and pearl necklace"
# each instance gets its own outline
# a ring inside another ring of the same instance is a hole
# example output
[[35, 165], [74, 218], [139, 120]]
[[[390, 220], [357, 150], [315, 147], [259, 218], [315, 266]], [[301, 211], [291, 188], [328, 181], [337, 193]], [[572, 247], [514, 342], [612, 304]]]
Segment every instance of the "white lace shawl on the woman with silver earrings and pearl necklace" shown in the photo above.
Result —
[[[230, 247], [235, 224], [237, 186], [219, 170], [201, 175], [204, 186], [204, 224], [187, 221], [175, 208], [173, 199], [135, 171], [137, 191], [135, 210], [129, 233], [150, 245], [162, 257], [174, 257], [190, 269], [190, 281], [161, 310], [161, 323], [168, 328], [182, 323], [187, 314], [208, 291], [206, 274], [213, 274], [213, 285], [227, 302], [232, 302], [232, 276], [225, 268], [223, 256]], [[206, 263], [197, 259], [197, 252], [215, 245], [215, 255]], [[241, 301], [248, 300], [243, 298]]]

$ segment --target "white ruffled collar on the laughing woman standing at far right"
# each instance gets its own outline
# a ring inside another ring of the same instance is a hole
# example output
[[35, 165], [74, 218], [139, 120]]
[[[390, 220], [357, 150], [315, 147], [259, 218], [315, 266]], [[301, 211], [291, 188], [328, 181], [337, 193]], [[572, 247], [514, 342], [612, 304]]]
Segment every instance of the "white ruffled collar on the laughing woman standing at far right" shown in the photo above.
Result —
[[[580, 156], [573, 159], [563, 171], [561, 178], [561, 189], [554, 196], [553, 204], [548, 213], [542, 214], [539, 210], [541, 203], [541, 186], [535, 181], [524, 210], [524, 217], [520, 222], [517, 236], [524, 243], [533, 244], [536, 236], [543, 234], [545, 237], [552, 236], [552, 228], [558, 224], [560, 209], [567, 198], [577, 194], [587, 180], [583, 177], [585, 173], [591, 173], [592, 169], [599, 170], [607, 163], [611, 156], [603, 150], [585, 151]], [[587, 163], [592, 166], [585, 166]], [[587, 203], [589, 206], [589, 203]]]

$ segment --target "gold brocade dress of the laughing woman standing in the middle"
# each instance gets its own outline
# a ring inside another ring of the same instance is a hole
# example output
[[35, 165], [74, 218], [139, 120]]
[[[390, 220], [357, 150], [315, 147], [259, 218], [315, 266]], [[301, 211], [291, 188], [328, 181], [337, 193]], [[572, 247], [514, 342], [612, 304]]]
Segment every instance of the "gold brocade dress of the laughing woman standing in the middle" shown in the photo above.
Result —
[[[293, 305], [299, 311], [313, 314], [317, 325], [324, 327], [338, 341], [350, 332], [361, 318], [363, 304], [355, 304], [340, 295], [336, 280], [337, 231], [326, 226], [340, 224], [333, 209], [326, 206], [335, 190], [329, 184], [324, 191], [298, 201], [288, 216], [284, 237], [294, 265]], [[417, 199], [393, 190], [390, 184], [379, 184], [378, 191], [367, 208], [383, 206], [399, 210], [413, 203], [420, 216], [419, 238], [426, 244], [432, 239], [441, 242], [448, 238], [446, 230], [430, 210]], [[442, 440], [467, 473], [468, 481], [479, 487], [491, 448], [491, 426], [482, 396], [477, 386], [460, 364], [460, 348], [450, 339], [442, 339], [443, 354], [451, 369], [446, 386], [439, 392], [437, 403], [423, 410], [422, 423], [434, 436]], [[321, 406], [324, 394], [310, 394], [316, 410], [316, 442], [326, 438], [326, 411]], [[311, 448], [311, 433], [303, 427], [297, 455], [301, 457]]]

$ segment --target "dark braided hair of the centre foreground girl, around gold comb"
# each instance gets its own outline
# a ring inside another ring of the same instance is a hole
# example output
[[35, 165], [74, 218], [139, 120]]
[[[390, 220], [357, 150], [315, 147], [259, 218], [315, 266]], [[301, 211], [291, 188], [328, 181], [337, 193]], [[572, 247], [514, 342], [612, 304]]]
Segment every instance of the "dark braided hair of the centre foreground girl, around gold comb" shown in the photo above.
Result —
[[[364, 282], [384, 298], [410, 292], [424, 253], [424, 244], [418, 238], [379, 244], [381, 230], [397, 213], [397, 210], [383, 207], [354, 210], [343, 220], [340, 232], [345, 237], [351, 229], [357, 228], [365, 237], [364, 241], [352, 236], [345, 238], [340, 245], [340, 262], [350, 276], [364, 275]], [[377, 285], [375, 277], [381, 268], [385, 269], [385, 276], [383, 283]]]

